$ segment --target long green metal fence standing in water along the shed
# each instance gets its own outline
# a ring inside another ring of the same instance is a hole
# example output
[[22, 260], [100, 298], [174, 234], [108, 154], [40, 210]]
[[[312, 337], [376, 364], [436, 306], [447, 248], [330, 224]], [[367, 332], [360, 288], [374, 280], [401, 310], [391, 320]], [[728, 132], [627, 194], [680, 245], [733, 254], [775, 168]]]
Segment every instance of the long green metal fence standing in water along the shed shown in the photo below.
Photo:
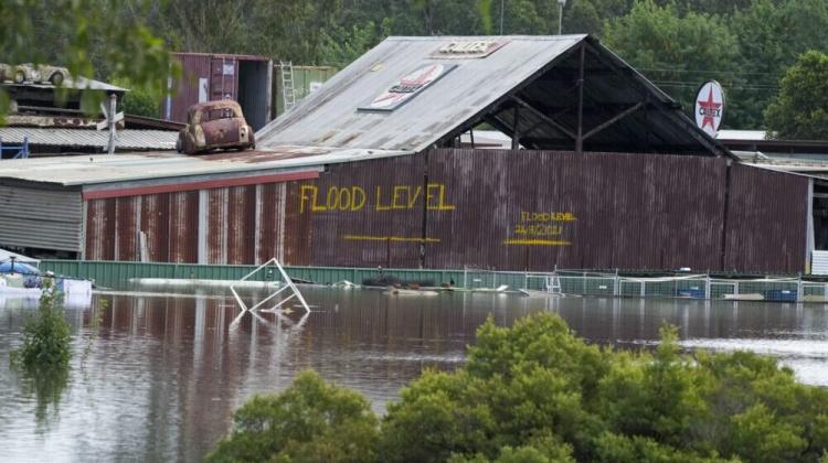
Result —
[[[237, 280], [256, 266], [197, 263], [42, 260], [42, 270], [94, 280], [97, 287], [127, 289], [136, 279]], [[491, 271], [482, 269], [368, 269], [342, 267], [285, 267], [297, 282], [330, 284], [343, 280], [362, 283], [367, 279], [393, 277], [405, 282], [467, 289], [529, 290], [559, 294], [742, 299], [785, 302], [826, 302], [828, 283], [797, 277], [713, 278], [709, 274], [662, 277], [625, 276], [618, 272], [558, 270], [554, 272]], [[278, 280], [277, 272], [259, 272], [256, 280]]]

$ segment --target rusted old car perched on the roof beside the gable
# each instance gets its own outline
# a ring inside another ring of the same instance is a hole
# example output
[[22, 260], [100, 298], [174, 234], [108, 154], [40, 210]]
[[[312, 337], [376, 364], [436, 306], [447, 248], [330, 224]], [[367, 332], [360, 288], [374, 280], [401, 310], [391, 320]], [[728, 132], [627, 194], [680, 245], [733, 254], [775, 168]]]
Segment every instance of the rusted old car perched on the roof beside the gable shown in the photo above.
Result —
[[187, 154], [248, 148], [256, 148], [253, 128], [244, 119], [242, 107], [232, 99], [191, 106], [187, 111], [187, 127], [181, 129], [176, 142], [176, 151]]

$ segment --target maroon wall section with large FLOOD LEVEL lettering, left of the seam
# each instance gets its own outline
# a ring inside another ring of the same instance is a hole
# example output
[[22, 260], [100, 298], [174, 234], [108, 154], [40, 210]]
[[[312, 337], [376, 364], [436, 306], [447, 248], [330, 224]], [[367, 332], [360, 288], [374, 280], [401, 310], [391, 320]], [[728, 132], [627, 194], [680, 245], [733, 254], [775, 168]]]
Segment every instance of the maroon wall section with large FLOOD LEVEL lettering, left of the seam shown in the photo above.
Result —
[[290, 207], [299, 222], [307, 217], [311, 224], [311, 262], [417, 267], [423, 165], [422, 154], [338, 164], [318, 180], [293, 185]]

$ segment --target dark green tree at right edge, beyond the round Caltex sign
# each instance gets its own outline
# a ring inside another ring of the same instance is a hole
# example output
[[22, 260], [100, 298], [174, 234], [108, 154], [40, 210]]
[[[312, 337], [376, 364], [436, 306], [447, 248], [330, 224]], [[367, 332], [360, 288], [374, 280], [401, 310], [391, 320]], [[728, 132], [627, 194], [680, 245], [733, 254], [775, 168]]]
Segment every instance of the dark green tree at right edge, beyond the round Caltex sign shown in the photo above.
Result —
[[810, 51], [799, 56], [765, 119], [778, 138], [828, 140], [828, 55]]

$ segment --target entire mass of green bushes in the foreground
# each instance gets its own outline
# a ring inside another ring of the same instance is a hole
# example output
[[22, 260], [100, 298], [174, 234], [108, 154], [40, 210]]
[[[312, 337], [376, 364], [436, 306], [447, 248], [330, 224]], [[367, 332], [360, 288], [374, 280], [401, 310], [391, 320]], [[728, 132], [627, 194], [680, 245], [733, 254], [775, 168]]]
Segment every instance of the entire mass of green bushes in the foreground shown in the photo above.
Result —
[[[379, 426], [355, 392], [304, 373], [283, 395], [246, 403], [213, 456], [453, 463], [825, 459], [828, 390], [798, 384], [773, 358], [683, 355], [676, 329], [667, 326], [654, 352], [602, 351], [553, 314], [510, 329], [489, 320], [477, 336], [465, 367], [425, 372], [402, 390], [400, 402], [389, 405]], [[340, 402], [350, 405], [333, 407]], [[231, 446], [238, 453], [229, 453]]]

